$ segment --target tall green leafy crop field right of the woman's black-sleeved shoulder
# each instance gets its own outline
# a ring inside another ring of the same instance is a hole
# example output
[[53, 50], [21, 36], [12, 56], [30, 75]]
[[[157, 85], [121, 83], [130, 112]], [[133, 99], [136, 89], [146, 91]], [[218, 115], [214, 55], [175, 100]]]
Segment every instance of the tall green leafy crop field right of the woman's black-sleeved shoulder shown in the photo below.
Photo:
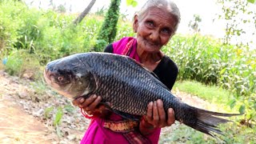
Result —
[[255, 122], [256, 50], [194, 35], [175, 36], [163, 51], [178, 64], [179, 80], [222, 86], [230, 91], [230, 107], [238, 106], [246, 121]]

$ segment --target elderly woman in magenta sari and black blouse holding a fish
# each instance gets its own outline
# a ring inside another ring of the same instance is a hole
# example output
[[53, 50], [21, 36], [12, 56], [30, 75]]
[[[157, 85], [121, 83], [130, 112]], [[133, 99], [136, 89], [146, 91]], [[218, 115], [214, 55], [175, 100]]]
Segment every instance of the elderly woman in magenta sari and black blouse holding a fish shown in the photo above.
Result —
[[[105, 52], [134, 58], [152, 70], [171, 90], [178, 75], [178, 67], [162, 53], [161, 48], [175, 34], [179, 22], [180, 14], [174, 2], [148, 0], [142, 10], [134, 15], [136, 38], [122, 38], [107, 46]], [[140, 122], [132, 122], [110, 112], [98, 105], [101, 100], [100, 96], [92, 95], [73, 101], [75, 106], [92, 115], [81, 143], [158, 143], [161, 128], [175, 121], [174, 110], [170, 108], [165, 111], [160, 99], [148, 104], [147, 114]]]

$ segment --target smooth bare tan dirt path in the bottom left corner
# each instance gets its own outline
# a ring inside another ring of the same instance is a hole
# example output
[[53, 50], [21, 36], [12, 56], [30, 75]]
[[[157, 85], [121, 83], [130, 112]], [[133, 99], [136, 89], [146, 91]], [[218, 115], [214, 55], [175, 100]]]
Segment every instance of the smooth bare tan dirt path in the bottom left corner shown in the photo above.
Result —
[[14, 102], [4, 96], [0, 103], [0, 143], [50, 143], [57, 141], [55, 134], [42, 122], [27, 114]]

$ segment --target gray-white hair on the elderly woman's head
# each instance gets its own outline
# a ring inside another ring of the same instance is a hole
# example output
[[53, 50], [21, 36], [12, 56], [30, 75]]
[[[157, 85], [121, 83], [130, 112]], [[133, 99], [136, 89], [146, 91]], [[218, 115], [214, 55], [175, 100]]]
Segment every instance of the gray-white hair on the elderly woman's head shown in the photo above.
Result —
[[174, 26], [174, 33], [178, 29], [178, 24], [181, 21], [181, 14], [178, 10], [178, 7], [176, 4], [170, 0], [148, 0], [144, 6], [142, 6], [142, 9], [138, 11], [138, 18], [141, 18], [146, 14], [146, 12], [149, 10], [150, 7], [159, 7], [159, 8], [165, 8], [169, 11], [169, 13], [176, 19], [176, 24]]

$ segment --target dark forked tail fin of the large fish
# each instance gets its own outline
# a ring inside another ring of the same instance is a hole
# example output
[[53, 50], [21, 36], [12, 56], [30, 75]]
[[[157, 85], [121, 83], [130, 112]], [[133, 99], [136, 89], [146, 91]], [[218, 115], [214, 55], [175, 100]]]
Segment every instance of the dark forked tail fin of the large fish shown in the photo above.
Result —
[[[218, 118], [216, 116], [222, 116], [222, 117], [232, 117], [236, 115], [242, 115], [242, 114], [224, 114], [224, 113], [217, 113], [212, 112], [208, 110], [201, 110], [196, 109], [196, 115], [197, 115], [197, 122], [193, 126], [190, 126], [194, 128], [195, 130], [199, 130], [202, 133], [209, 134], [212, 137], [214, 137], [212, 132], [217, 134], [222, 134], [221, 130], [218, 130], [217, 126], [221, 123], [231, 122], [230, 120], [224, 119], [224, 118]], [[189, 125], [188, 125], [189, 126]]]

